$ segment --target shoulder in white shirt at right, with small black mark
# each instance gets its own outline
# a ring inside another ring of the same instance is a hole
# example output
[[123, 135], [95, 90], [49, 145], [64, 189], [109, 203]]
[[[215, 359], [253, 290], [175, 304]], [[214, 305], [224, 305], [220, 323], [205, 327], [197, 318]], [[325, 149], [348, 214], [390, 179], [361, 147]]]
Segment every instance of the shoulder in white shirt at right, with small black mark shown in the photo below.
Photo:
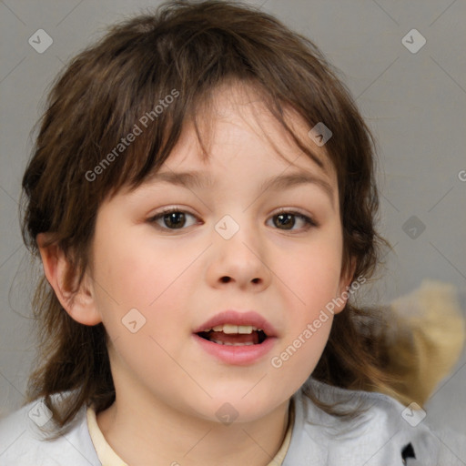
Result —
[[[318, 400], [338, 410], [356, 410], [357, 415], [347, 420], [329, 415], [309, 399], [309, 391]], [[431, 430], [424, 411], [407, 408], [387, 395], [309, 380], [293, 400], [295, 424], [284, 466], [402, 466], [412, 455], [423, 466], [464, 464]]]

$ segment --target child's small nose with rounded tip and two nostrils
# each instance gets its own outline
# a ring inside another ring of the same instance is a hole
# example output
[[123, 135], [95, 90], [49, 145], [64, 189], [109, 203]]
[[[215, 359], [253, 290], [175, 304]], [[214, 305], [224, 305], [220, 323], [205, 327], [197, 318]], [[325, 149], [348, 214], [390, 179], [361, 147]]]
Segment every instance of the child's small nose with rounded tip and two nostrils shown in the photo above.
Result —
[[242, 290], [261, 291], [271, 281], [267, 251], [258, 234], [244, 226], [229, 239], [213, 232], [213, 248], [209, 248], [208, 284], [217, 289], [237, 287]]

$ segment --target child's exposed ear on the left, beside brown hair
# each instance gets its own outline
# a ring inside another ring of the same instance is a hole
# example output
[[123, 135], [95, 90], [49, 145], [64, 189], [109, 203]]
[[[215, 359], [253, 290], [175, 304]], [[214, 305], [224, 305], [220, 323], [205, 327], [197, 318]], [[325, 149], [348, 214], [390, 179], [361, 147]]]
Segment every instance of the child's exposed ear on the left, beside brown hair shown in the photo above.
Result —
[[46, 279], [54, 289], [56, 298], [72, 319], [84, 325], [96, 325], [102, 321], [100, 313], [96, 309], [93, 295], [92, 282], [86, 273], [79, 288], [74, 285], [77, 277], [73, 276], [72, 289], [66, 289], [69, 283], [66, 279], [71, 271], [71, 264], [66, 259], [65, 253], [56, 244], [46, 245], [46, 233], [39, 233], [36, 237]]

